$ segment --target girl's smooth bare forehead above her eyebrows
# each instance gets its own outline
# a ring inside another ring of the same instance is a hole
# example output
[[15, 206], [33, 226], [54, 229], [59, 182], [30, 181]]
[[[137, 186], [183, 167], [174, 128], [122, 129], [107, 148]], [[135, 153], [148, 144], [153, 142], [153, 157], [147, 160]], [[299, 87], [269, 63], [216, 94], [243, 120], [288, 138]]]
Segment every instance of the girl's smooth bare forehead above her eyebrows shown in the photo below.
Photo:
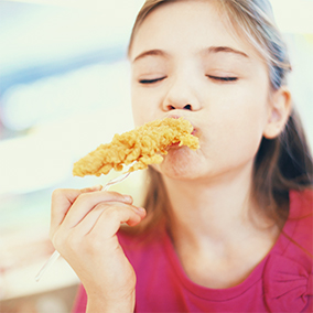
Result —
[[143, 20], [134, 34], [130, 57], [144, 50], [161, 48], [180, 54], [207, 46], [231, 46], [255, 54], [253, 47], [231, 30], [216, 1], [179, 0], [163, 2]]

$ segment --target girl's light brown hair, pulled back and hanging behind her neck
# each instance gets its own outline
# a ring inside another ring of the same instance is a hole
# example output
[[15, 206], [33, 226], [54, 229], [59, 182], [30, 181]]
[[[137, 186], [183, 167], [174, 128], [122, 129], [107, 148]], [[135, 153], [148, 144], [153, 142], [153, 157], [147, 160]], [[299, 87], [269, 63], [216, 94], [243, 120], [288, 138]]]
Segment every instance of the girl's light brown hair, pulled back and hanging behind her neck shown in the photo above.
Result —
[[[149, 13], [158, 7], [183, 0], [147, 0], [137, 15], [130, 42]], [[291, 64], [287, 46], [278, 30], [271, 4], [268, 0], [207, 0], [215, 1], [222, 14], [226, 14], [234, 31], [252, 44], [268, 64], [272, 90], [287, 84]], [[299, 116], [293, 109], [284, 131], [273, 140], [262, 139], [253, 169], [253, 196], [259, 206], [272, 218], [285, 219], [289, 190], [312, 187], [312, 156]], [[147, 224], [155, 224], [166, 213], [168, 196], [162, 175], [150, 169], [151, 184], [145, 208], [150, 212]], [[151, 214], [151, 212], [153, 214]], [[158, 212], [158, 213], [156, 213]], [[159, 218], [153, 218], [159, 216]]]

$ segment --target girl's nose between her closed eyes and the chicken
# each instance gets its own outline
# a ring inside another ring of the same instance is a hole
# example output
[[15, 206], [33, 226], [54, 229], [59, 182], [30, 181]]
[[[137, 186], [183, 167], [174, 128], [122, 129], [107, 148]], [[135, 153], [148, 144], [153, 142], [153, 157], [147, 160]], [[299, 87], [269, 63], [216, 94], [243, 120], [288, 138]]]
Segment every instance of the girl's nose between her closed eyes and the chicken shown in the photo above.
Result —
[[197, 111], [201, 109], [201, 101], [196, 88], [190, 79], [177, 78], [172, 82], [163, 99], [164, 111], [175, 109]]

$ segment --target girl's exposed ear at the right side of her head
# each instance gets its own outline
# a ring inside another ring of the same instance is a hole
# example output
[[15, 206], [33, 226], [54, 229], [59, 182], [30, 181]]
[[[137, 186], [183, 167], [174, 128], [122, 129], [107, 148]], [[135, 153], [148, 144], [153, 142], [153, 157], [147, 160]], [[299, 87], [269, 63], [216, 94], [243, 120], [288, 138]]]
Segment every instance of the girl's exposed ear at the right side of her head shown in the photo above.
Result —
[[271, 95], [269, 104], [268, 121], [263, 130], [263, 137], [273, 139], [284, 129], [291, 111], [290, 90], [282, 86]]

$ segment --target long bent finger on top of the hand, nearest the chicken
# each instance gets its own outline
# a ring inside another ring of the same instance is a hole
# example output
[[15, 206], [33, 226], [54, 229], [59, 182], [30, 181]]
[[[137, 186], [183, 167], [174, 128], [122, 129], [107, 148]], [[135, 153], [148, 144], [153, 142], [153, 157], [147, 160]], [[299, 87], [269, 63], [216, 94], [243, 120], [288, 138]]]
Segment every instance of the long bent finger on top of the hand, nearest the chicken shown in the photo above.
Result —
[[132, 204], [132, 197], [116, 192], [94, 192], [80, 194], [73, 203], [62, 224], [64, 227], [73, 228], [80, 223], [85, 216], [100, 203], [119, 202]]

